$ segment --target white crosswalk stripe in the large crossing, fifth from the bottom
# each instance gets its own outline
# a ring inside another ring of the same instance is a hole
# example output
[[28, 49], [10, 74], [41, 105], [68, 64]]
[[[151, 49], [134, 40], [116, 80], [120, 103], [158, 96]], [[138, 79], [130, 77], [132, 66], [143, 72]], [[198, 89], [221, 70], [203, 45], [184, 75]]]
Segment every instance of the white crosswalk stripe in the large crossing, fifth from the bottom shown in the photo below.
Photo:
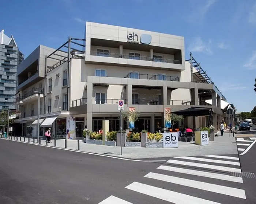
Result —
[[231, 167], [226, 167], [226, 166], [200, 164], [200, 163], [180, 161], [180, 160], [168, 160], [166, 162], [171, 163], [171, 164], [180, 164], [180, 165], [196, 166], [196, 167], [207, 168], [207, 169], [222, 170], [222, 171], [225, 171], [225, 172], [241, 172], [241, 169], [231, 168]]

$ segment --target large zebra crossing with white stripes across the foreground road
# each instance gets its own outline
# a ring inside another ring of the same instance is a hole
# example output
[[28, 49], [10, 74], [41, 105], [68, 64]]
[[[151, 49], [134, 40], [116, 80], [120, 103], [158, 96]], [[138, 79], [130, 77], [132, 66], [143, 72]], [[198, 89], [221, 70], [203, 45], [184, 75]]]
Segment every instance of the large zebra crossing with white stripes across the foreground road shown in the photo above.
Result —
[[157, 203], [246, 203], [242, 178], [231, 176], [230, 172], [241, 172], [238, 157], [173, 157], [154, 172], [147, 173], [142, 181], [134, 181], [125, 187], [134, 197], [123, 200], [121, 196], [112, 195], [99, 204], [145, 203], [140, 200], [140, 195], [159, 199]]

